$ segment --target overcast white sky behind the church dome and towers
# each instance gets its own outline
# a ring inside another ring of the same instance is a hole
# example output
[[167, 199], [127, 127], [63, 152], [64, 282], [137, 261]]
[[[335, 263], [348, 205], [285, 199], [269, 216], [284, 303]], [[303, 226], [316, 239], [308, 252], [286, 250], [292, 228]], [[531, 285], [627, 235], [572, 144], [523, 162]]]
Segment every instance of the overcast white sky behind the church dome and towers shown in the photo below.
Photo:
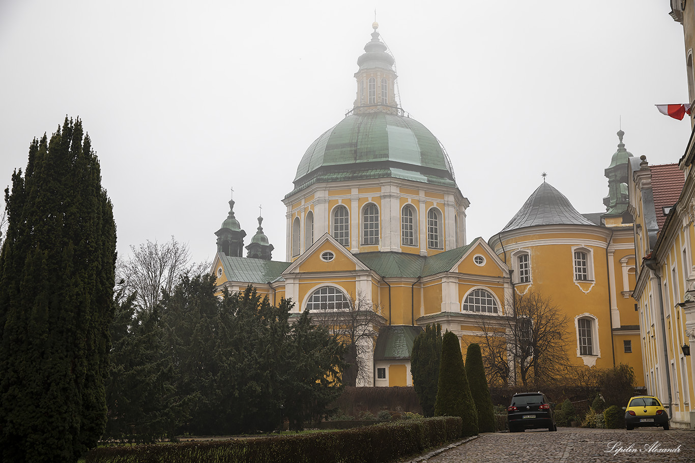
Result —
[[227, 217], [285, 260], [281, 203], [306, 148], [352, 108], [374, 9], [404, 110], [439, 138], [468, 242], [497, 233], [541, 183], [603, 212], [625, 143], [678, 162], [682, 26], [668, 0], [0, 0], [0, 185], [33, 137], [80, 117], [101, 160], [120, 255], [147, 239], [211, 260]]

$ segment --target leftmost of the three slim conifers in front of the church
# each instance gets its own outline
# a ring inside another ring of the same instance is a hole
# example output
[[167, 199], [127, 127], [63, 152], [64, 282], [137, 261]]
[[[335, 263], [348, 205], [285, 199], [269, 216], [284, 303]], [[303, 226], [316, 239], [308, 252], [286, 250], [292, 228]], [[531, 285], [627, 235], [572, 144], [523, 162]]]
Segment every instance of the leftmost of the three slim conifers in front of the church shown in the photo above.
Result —
[[436, 389], [439, 384], [439, 358], [441, 357], [441, 326], [427, 325], [415, 338], [410, 356], [413, 386], [418, 394], [425, 416], [434, 416]]

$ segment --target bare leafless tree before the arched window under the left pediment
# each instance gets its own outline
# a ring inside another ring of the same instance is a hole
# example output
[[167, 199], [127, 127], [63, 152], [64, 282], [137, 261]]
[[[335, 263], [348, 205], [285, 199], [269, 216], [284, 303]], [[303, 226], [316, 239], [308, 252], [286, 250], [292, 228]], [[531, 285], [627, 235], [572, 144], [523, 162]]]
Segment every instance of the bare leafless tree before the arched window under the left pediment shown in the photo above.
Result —
[[321, 304], [318, 310], [311, 310], [311, 319], [347, 346], [345, 361], [350, 367], [343, 371], [343, 384], [370, 384], [374, 344], [379, 328], [386, 323], [381, 306], [364, 294], [351, 294], [347, 301]]

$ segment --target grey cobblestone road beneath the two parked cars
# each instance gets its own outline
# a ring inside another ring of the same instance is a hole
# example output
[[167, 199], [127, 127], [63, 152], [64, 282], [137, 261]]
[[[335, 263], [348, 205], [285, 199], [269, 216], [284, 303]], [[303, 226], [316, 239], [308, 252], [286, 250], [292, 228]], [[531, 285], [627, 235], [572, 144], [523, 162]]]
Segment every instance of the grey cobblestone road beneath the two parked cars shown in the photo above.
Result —
[[[619, 450], [623, 450], [620, 451]], [[662, 453], [666, 449], [680, 452]], [[642, 463], [695, 462], [695, 431], [661, 428], [636, 430], [557, 428], [483, 434], [427, 463]]]

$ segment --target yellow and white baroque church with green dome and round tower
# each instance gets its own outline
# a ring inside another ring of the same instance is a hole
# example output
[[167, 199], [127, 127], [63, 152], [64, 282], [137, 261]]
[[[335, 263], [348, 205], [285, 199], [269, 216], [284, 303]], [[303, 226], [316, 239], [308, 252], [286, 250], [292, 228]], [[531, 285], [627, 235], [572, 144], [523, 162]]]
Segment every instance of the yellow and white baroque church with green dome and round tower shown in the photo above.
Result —
[[427, 324], [455, 332], [465, 348], [480, 339], [481, 320], [504, 330], [515, 294], [539, 291], [569, 317], [573, 364], [628, 363], [641, 378], [632, 221], [614, 181], [627, 155], [606, 171], [605, 214], [584, 217], [543, 182], [500, 233], [469, 241], [470, 203], [439, 140], [400, 108], [393, 57], [376, 29], [357, 60], [353, 109], [309, 146], [283, 199], [285, 259], [272, 260], [260, 217], [243, 246], [230, 201], [216, 232], [220, 291], [252, 284], [272, 303], [291, 299], [297, 316], [368, 308], [363, 386], [412, 385], [410, 353]]

